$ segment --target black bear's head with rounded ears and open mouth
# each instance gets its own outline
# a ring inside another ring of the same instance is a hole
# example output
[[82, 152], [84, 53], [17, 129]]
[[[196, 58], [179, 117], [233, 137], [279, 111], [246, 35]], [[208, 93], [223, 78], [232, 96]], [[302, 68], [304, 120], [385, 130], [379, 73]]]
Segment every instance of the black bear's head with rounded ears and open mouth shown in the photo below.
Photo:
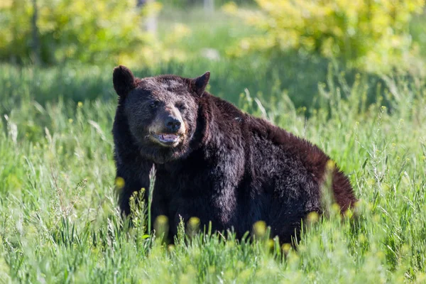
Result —
[[124, 66], [114, 68], [114, 89], [141, 155], [167, 163], [190, 153], [198, 102], [209, 77], [206, 72], [195, 79], [175, 75], [139, 79]]

